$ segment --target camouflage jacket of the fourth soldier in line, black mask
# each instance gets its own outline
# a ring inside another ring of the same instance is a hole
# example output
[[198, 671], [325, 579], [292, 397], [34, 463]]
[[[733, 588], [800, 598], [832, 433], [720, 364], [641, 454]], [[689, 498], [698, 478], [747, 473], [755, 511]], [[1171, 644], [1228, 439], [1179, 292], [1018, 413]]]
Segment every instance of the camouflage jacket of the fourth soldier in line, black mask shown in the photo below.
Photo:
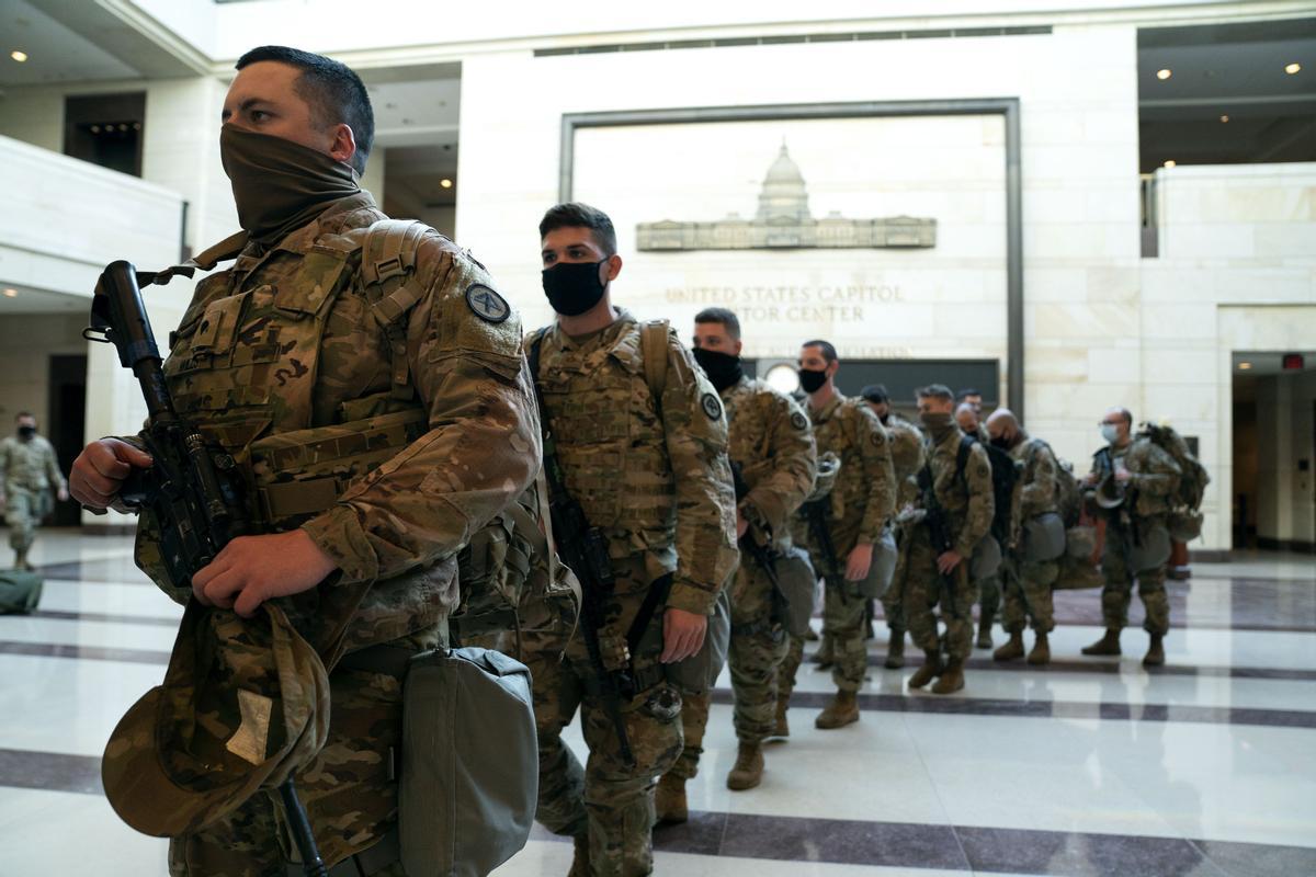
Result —
[[832, 547], [844, 557], [857, 544], [874, 543], [895, 511], [896, 476], [891, 442], [882, 421], [863, 400], [840, 392], [821, 410], [809, 409], [819, 454], [841, 459], [832, 489], [828, 527]]

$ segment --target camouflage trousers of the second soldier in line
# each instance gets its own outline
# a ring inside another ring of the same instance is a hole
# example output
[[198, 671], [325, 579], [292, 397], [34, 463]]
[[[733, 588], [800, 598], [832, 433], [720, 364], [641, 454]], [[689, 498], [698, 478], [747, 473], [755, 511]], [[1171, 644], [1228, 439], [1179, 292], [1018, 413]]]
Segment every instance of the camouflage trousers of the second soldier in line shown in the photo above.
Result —
[[[607, 600], [609, 630], [626, 631], [644, 602], [642, 589], [626, 589]], [[650, 625], [662, 625], [657, 613]], [[661, 643], [659, 638], [645, 636]], [[682, 697], [667, 682], [622, 699], [620, 711], [633, 764], [621, 756], [617, 732], [599, 694], [584, 638], [576, 635], [561, 652], [561, 640], [538, 634], [522, 642], [525, 664], [534, 680], [534, 721], [540, 735], [538, 819], [557, 835], [590, 839], [595, 877], [632, 877], [653, 872], [654, 785], [682, 751]], [[653, 673], [658, 651], [633, 656], [637, 673]], [[562, 728], [576, 710], [590, 757], [584, 767], [562, 742]]]

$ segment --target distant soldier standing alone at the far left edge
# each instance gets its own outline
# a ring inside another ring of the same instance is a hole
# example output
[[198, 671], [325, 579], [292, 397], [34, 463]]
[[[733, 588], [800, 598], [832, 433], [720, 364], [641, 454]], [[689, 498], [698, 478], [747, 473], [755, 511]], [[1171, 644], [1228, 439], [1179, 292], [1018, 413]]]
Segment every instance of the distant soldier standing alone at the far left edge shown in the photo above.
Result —
[[37, 435], [37, 418], [29, 412], [18, 412], [13, 422], [17, 435], [0, 440], [0, 505], [9, 527], [13, 568], [33, 569], [28, 551], [41, 519], [50, 514], [50, 490], [54, 488], [63, 502], [68, 498], [68, 485], [59, 471], [55, 448]]

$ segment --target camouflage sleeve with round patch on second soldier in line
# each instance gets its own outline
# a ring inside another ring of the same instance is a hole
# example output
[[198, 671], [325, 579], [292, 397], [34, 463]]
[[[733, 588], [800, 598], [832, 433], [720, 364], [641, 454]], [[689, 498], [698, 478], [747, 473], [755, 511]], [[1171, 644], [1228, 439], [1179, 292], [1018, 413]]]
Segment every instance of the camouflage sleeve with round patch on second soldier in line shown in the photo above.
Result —
[[736, 489], [722, 402], [675, 330], [667, 341], [662, 419], [676, 483], [676, 575], [667, 606], [709, 615], [740, 560]]

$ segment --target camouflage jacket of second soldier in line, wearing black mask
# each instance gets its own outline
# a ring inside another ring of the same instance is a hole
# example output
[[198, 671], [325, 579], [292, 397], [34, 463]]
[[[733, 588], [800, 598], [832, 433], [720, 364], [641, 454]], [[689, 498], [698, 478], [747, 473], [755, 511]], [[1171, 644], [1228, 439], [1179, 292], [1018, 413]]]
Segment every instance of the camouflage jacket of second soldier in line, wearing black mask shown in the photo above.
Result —
[[586, 338], [557, 323], [542, 331], [536, 379], [567, 490], [608, 534], [613, 560], [642, 557], [651, 579], [674, 573], [667, 606], [712, 614], [740, 559], [726, 418], [712, 384], [669, 329], [655, 400], [640, 323], [620, 308]]

